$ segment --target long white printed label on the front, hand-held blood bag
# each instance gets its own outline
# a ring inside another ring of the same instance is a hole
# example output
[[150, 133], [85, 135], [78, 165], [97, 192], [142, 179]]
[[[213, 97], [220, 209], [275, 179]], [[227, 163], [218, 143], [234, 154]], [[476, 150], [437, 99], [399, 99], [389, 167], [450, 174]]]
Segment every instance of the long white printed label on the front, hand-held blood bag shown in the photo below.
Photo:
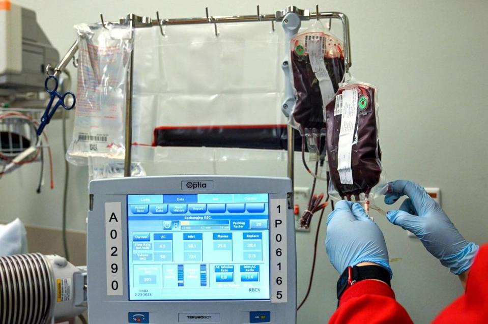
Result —
[[[346, 90], [342, 92], [340, 107], [336, 107], [340, 111], [340, 131], [339, 131], [339, 148], [337, 152], [337, 171], [341, 184], [353, 184], [353, 171], [351, 169], [351, 154], [354, 140], [354, 129], [356, 127], [357, 118], [357, 102], [358, 92], [356, 89]], [[336, 100], [337, 105], [337, 100]], [[335, 115], [335, 111], [334, 111]]]

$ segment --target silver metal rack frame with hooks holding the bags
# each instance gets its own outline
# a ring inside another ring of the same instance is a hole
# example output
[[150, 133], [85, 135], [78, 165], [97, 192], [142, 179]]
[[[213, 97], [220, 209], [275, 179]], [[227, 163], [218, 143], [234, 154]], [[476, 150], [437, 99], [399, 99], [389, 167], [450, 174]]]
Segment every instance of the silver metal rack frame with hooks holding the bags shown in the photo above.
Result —
[[[103, 27], [106, 24], [123, 24], [128, 25], [133, 28], [150, 28], [159, 27], [161, 35], [164, 35], [163, 26], [170, 25], [189, 25], [189, 24], [214, 24], [215, 26], [215, 36], [219, 36], [217, 24], [220, 23], [232, 23], [232, 22], [260, 22], [260, 21], [270, 21], [272, 25], [272, 30], [275, 31], [275, 23], [281, 22], [288, 37], [293, 36], [297, 33], [301, 21], [311, 20], [311, 19], [329, 19], [329, 26], [331, 19], [339, 19], [342, 22], [342, 33], [344, 42], [344, 63], [345, 71], [348, 72], [351, 67], [351, 42], [349, 35], [349, 19], [341, 12], [320, 12], [319, 5], [315, 6], [315, 12], [311, 12], [306, 9], [299, 9], [295, 6], [289, 6], [284, 10], [277, 11], [275, 14], [261, 14], [260, 7], [257, 6], [257, 13], [255, 15], [243, 15], [243, 16], [210, 16], [209, 9], [205, 8], [205, 17], [196, 18], [170, 18], [170, 19], [160, 19], [159, 12], [156, 12], [157, 19], [151, 19], [147, 16], [137, 16], [135, 14], [128, 14], [127, 17], [121, 18], [119, 21], [115, 22], [105, 22], [103, 15], [100, 15], [100, 22]], [[293, 26], [291, 22], [295, 21]], [[288, 44], [286, 45], [288, 48]], [[70, 47], [68, 52], [62, 58], [60, 63], [53, 69], [54, 76], [59, 76], [62, 71], [65, 70], [66, 66], [71, 60], [74, 62], [74, 55], [78, 50], [78, 40], [76, 40]], [[288, 53], [289, 55], [289, 53]], [[126, 86], [126, 120], [125, 120], [125, 159], [124, 159], [124, 176], [130, 176], [130, 166], [132, 160], [132, 91], [133, 91], [133, 61], [134, 61], [134, 49], [130, 57], [130, 68], [127, 71], [127, 86]], [[283, 62], [282, 67], [288, 65], [287, 61]], [[50, 66], [46, 67], [46, 72], [52, 71]], [[290, 84], [291, 85], [291, 84]], [[289, 89], [288, 89], [289, 90]], [[294, 101], [293, 96], [288, 91], [285, 103], [283, 103], [282, 110], [285, 114], [290, 111], [288, 103]], [[290, 107], [291, 108], [291, 107]], [[288, 110], [287, 110], [288, 109]], [[294, 180], [294, 129], [288, 126], [288, 176]]]

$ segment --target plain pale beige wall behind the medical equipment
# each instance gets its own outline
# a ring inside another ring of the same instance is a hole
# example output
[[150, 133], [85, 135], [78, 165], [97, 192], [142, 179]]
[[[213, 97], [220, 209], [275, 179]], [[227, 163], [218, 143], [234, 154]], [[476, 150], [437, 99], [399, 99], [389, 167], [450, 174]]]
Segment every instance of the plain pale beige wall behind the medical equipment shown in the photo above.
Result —
[[[128, 12], [165, 17], [211, 14], [252, 14], [255, 3], [242, 1], [36, 1], [17, 3], [36, 10], [38, 20], [61, 53], [74, 41], [71, 26], [78, 22], [116, 19]], [[267, 1], [262, 13], [284, 8], [288, 1]], [[314, 8], [315, 2], [298, 1], [299, 7]], [[380, 89], [381, 145], [389, 179], [406, 178], [424, 186], [440, 187], [442, 205], [454, 224], [469, 240], [486, 241], [488, 218], [483, 207], [488, 189], [488, 12], [486, 1], [375, 1], [331, 0], [322, 10], [345, 12], [351, 21], [352, 72], [357, 79]], [[70, 67], [73, 71], [73, 68]], [[63, 181], [61, 126], [54, 121], [47, 128], [54, 154], [54, 190], [37, 195], [39, 165], [0, 180], [0, 221], [20, 217], [36, 226], [60, 228]], [[283, 163], [220, 163], [220, 174], [284, 175]], [[162, 164], [147, 166], [149, 174], [212, 173], [211, 165]], [[297, 163], [297, 184], [311, 181]], [[71, 167], [68, 227], [84, 230], [88, 207], [88, 172]], [[317, 219], [315, 219], [315, 222]], [[432, 319], [462, 292], [457, 279], [430, 257], [421, 244], [381, 217], [392, 262], [393, 287], [397, 299], [415, 322]], [[335, 309], [337, 273], [324, 249], [325, 222], [314, 286], [309, 301], [298, 314], [299, 323], [326, 322]], [[314, 227], [315, 228], [315, 227]], [[32, 232], [30, 232], [31, 234]], [[56, 241], [59, 243], [59, 241]], [[79, 239], [72, 249], [82, 249]], [[49, 252], [48, 239], [35, 247]], [[313, 234], [297, 234], [298, 298], [305, 293], [313, 246]], [[31, 245], [32, 247], [32, 245]], [[60, 251], [52, 249], [52, 251]]]

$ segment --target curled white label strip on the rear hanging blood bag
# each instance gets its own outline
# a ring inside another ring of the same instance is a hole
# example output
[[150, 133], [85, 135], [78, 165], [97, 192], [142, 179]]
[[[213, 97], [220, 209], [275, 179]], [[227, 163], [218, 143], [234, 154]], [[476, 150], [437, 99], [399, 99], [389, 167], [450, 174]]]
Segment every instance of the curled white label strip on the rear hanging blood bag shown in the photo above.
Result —
[[319, 80], [320, 94], [322, 95], [323, 107], [326, 106], [329, 99], [334, 96], [334, 86], [330, 79], [329, 72], [324, 62], [324, 54], [322, 48], [324, 46], [325, 37], [313, 37], [307, 42], [308, 57], [310, 58], [310, 65], [317, 80]]

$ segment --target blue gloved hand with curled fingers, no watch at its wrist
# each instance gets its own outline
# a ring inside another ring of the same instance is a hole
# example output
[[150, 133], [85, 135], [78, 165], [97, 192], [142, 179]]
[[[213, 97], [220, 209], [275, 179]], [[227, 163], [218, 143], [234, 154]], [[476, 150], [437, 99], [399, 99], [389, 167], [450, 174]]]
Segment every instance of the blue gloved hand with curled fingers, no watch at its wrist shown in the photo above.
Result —
[[401, 196], [407, 198], [399, 210], [386, 214], [388, 220], [414, 233], [423, 246], [442, 265], [459, 275], [471, 267], [479, 247], [467, 242], [439, 204], [416, 183], [397, 180], [389, 184], [385, 202], [392, 204]]

